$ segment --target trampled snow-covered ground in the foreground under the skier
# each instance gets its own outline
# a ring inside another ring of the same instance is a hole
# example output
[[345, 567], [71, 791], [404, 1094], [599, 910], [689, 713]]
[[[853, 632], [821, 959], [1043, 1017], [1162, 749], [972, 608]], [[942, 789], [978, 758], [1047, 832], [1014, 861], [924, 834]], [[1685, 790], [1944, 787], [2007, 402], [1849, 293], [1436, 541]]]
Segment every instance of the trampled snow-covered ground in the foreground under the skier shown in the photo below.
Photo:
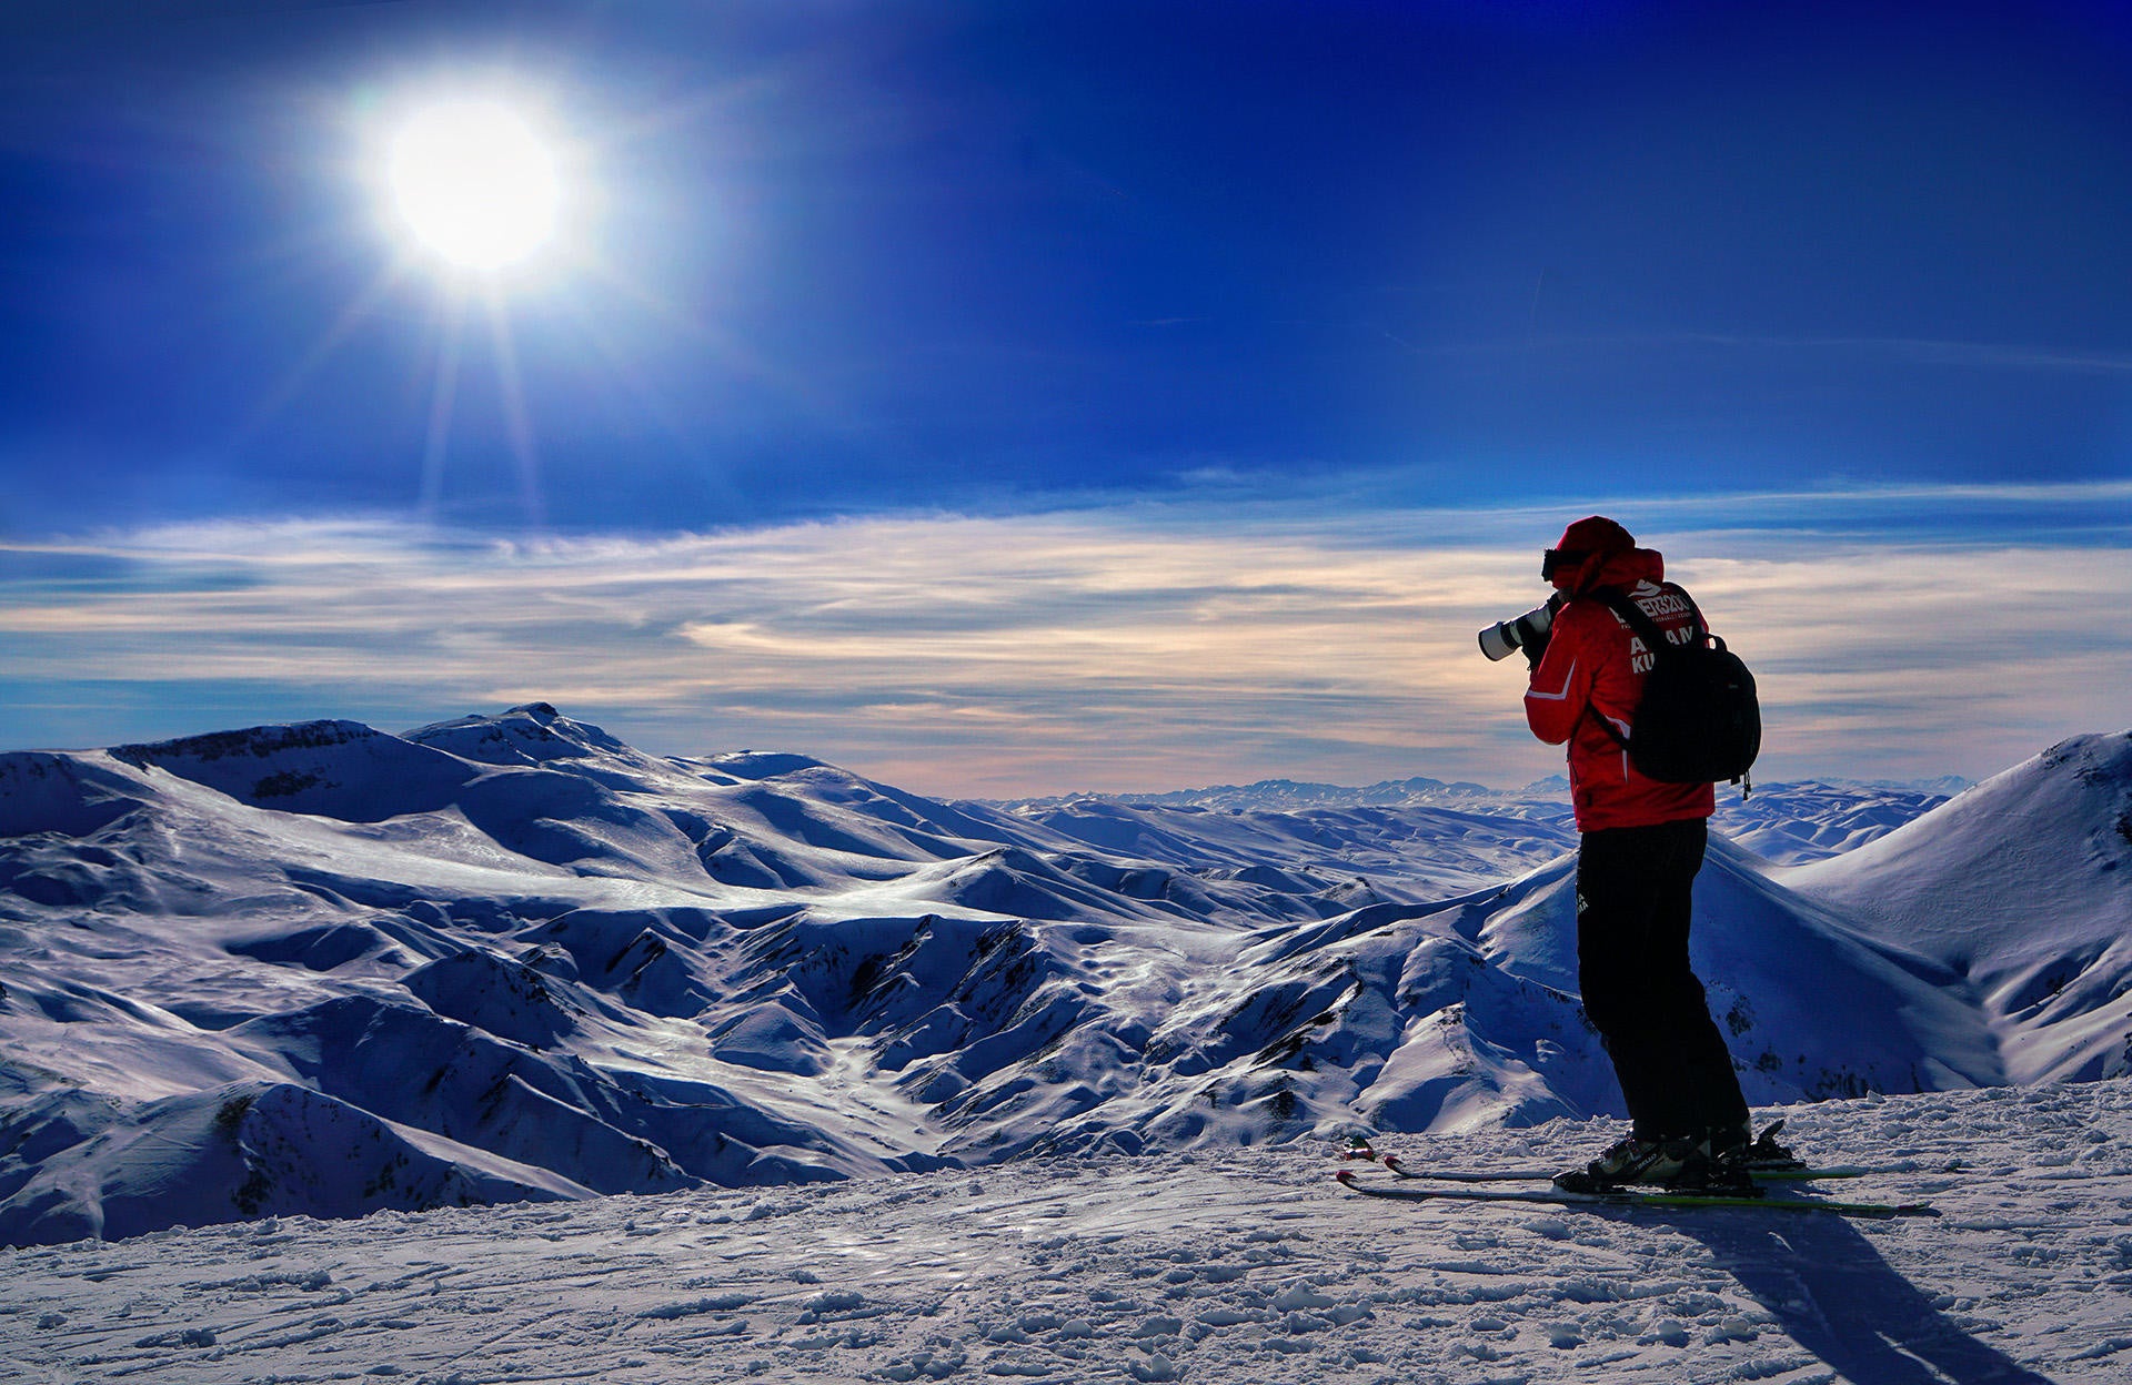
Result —
[[[0, 1251], [6, 1379], [2132, 1381], [2132, 1087], [1823, 1102], [1938, 1221], [1388, 1204], [1330, 1142]], [[1411, 1136], [1569, 1161], [1608, 1123]]]

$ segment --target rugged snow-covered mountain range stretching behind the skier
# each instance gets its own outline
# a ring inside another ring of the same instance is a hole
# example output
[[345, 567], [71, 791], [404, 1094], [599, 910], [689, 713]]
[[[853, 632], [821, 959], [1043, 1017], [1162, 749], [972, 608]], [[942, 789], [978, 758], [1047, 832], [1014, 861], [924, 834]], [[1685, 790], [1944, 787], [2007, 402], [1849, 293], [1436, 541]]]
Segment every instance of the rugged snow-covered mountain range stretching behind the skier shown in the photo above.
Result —
[[[2010, 1006], [2006, 918], [1936, 948], [1897, 906], [1989, 893], [1949, 844], [1998, 803], [2089, 850], [2128, 780], [2098, 737], [1825, 867], [1718, 842], [1697, 961], [1750, 1099], [2087, 1053], [2115, 997]], [[0, 756], [0, 1242], [1612, 1112], [1571, 848], [1426, 803], [938, 803], [548, 705]], [[2121, 931], [2106, 861], [2028, 931]]]

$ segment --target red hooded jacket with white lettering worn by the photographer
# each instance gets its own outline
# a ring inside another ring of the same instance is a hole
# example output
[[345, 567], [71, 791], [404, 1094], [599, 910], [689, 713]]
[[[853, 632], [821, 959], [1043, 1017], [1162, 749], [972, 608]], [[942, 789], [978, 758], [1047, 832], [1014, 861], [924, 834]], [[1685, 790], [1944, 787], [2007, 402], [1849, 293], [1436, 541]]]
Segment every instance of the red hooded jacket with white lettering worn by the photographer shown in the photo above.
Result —
[[1524, 720], [1533, 735], [1550, 746], [1569, 742], [1569, 801], [1580, 831], [1654, 827], [1716, 812], [1712, 784], [1661, 784], [1644, 778], [1620, 742], [1597, 722], [1603, 716], [1622, 735], [1633, 733], [1650, 652], [1608, 605], [1580, 597], [1599, 586], [1618, 586], [1665, 631], [1695, 618], [1693, 607], [1676, 594], [1678, 588], [1661, 586], [1665, 558], [1633, 543], [1629, 531], [1612, 520], [1578, 520], [1563, 535], [1561, 550], [1590, 556], [1552, 577], [1569, 601], [1554, 616], [1548, 650], [1524, 692]]

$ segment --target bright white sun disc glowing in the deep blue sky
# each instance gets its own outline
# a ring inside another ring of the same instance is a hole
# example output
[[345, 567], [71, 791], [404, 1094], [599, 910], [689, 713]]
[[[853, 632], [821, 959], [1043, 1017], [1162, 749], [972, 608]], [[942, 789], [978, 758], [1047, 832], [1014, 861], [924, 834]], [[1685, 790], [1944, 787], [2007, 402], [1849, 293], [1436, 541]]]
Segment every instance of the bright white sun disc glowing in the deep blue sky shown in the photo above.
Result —
[[405, 230], [467, 271], [501, 271], [537, 251], [563, 200], [550, 143], [492, 100], [409, 115], [388, 147], [386, 177]]

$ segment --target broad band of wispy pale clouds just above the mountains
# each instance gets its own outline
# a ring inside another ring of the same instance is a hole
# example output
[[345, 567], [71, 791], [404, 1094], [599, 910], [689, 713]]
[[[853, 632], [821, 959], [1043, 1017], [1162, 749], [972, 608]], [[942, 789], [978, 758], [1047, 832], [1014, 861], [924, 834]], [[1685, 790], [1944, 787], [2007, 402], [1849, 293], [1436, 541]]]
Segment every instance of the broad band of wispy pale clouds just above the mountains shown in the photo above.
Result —
[[[1770, 778], [1921, 776], [2126, 720], [2132, 552], [1955, 531], [1887, 543], [1838, 520], [2066, 501], [1910, 490], [1620, 514], [1759, 669]], [[13, 744], [79, 744], [548, 699], [652, 750], [780, 746], [934, 793], [1509, 784], [1558, 752], [1524, 733], [1522, 665], [1486, 663], [1473, 633], [1544, 594], [1537, 550], [1565, 518], [1209, 503], [663, 539], [286, 522], [15, 545], [0, 712]]]

